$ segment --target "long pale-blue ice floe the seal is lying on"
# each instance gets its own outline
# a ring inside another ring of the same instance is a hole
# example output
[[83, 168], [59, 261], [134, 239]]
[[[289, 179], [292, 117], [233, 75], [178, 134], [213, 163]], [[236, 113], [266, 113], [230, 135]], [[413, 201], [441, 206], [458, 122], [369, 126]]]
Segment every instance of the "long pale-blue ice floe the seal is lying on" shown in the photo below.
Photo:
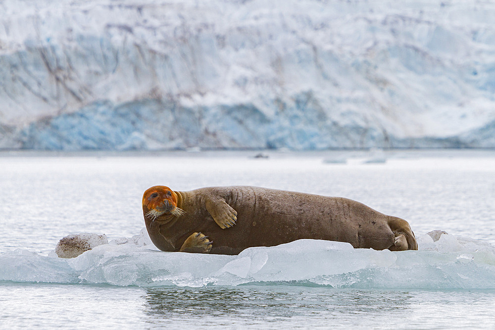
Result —
[[433, 242], [426, 234], [418, 236], [418, 242], [418, 251], [392, 252], [303, 239], [251, 247], [237, 256], [161, 252], [128, 242], [102, 244], [71, 259], [19, 249], [0, 252], [0, 281], [119, 286], [284, 282], [354, 288], [495, 288], [495, 246], [489, 242], [453, 235], [441, 235]]

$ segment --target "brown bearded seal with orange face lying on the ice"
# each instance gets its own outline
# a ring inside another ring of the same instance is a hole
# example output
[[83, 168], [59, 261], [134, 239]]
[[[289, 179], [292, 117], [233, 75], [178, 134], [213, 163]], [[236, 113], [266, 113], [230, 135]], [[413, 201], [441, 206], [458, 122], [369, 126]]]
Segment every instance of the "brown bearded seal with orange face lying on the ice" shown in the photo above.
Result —
[[143, 215], [162, 251], [235, 255], [303, 238], [375, 250], [418, 249], [407, 221], [343, 197], [248, 186], [155, 186], [143, 194]]

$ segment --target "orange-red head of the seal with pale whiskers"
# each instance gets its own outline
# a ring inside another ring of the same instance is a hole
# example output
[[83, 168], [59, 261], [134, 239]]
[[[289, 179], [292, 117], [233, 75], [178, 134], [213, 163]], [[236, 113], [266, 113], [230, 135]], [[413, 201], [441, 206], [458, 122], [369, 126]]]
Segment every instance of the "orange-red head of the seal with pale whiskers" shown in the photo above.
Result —
[[[143, 214], [149, 220], [168, 220], [171, 216], [179, 217], [184, 211], [177, 207], [177, 194], [165, 186], [154, 186], [143, 194]], [[158, 219], [157, 219], [158, 218]]]

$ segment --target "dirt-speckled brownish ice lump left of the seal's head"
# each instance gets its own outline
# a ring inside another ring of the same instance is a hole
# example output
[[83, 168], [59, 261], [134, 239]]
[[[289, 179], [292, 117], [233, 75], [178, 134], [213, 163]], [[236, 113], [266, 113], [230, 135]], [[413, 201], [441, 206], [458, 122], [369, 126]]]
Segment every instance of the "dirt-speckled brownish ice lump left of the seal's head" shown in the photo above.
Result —
[[60, 258], [75, 258], [81, 253], [91, 250], [95, 246], [108, 244], [105, 234], [77, 234], [60, 239], [55, 247], [55, 253]]

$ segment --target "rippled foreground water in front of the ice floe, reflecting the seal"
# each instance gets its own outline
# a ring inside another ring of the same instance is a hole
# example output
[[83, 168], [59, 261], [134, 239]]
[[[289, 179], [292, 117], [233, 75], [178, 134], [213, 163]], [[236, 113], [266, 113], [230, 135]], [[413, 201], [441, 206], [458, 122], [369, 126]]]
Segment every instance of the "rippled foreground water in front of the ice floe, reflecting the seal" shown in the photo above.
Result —
[[[493, 329], [493, 290], [1, 286], [4, 329]], [[282, 328], [283, 327], [283, 328]]]

